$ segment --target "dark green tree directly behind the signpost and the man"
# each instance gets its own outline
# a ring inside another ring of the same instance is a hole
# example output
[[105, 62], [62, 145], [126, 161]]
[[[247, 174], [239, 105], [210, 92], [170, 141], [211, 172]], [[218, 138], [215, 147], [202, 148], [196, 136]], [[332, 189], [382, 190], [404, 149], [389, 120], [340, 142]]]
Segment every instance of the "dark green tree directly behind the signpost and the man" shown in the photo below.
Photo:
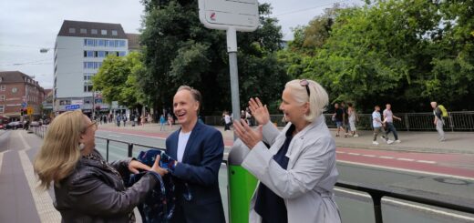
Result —
[[[137, 79], [155, 108], [168, 108], [180, 85], [201, 91], [203, 112], [210, 114], [231, 106], [229, 65], [224, 31], [201, 25], [196, 0], [143, 1], [145, 15], [140, 43], [146, 72]], [[271, 18], [270, 5], [260, 5], [262, 26], [253, 33], [239, 33], [241, 101], [258, 95], [276, 100], [274, 88], [286, 78], [276, 63], [281, 32]], [[265, 81], [265, 82], [263, 82]], [[263, 89], [266, 86], [270, 86]], [[261, 89], [261, 90], [255, 90]], [[243, 103], [242, 103], [243, 104]]]

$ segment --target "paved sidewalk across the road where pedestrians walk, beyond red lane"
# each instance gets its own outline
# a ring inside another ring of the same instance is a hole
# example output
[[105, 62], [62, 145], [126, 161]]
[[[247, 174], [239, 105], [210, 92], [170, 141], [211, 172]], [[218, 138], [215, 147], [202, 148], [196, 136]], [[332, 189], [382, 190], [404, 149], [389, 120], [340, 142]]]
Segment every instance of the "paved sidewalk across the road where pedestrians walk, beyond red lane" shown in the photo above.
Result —
[[[131, 127], [117, 127], [115, 124], [104, 124], [100, 125], [99, 129], [102, 130], [133, 130], [137, 133], [153, 133], [160, 135], [161, 137], [167, 137], [171, 132], [177, 130], [180, 126], [174, 125], [173, 127], [165, 127], [163, 131], [160, 131], [160, 124], [145, 124], [145, 126]], [[216, 127], [222, 132], [222, 136], [227, 142], [232, 144], [233, 131], [224, 131], [223, 127]], [[335, 136], [335, 128], [331, 128], [333, 136]], [[447, 140], [444, 142], [438, 142], [437, 132], [398, 132], [398, 139], [401, 143], [394, 143], [392, 145], [386, 145], [386, 143], [380, 138], [379, 134], [377, 141], [379, 145], [372, 144], [372, 131], [359, 131], [359, 137], [335, 137], [335, 144], [337, 147], [356, 147], [356, 148], [368, 148], [368, 149], [384, 149], [384, 150], [397, 150], [397, 151], [416, 151], [416, 152], [430, 152], [430, 153], [461, 153], [461, 154], [474, 154], [474, 132], [446, 132]], [[393, 135], [388, 135], [393, 139]]]

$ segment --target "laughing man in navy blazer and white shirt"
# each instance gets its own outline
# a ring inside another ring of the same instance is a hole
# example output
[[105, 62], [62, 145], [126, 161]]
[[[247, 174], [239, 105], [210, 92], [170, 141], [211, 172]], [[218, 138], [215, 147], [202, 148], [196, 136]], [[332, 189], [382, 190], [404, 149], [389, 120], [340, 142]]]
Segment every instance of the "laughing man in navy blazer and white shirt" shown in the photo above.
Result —
[[175, 159], [176, 209], [171, 222], [225, 222], [219, 191], [223, 156], [220, 131], [198, 122], [201, 93], [180, 86], [173, 112], [181, 125], [166, 139], [166, 153]]

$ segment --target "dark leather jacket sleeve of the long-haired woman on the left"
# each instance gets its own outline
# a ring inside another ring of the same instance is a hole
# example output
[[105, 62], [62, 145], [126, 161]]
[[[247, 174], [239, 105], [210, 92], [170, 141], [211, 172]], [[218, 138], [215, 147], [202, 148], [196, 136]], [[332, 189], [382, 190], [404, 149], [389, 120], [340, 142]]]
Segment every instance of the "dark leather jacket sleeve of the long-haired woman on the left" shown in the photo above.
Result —
[[112, 216], [129, 213], [142, 202], [159, 182], [148, 173], [125, 191], [118, 191], [105, 184], [99, 174], [81, 175], [71, 180], [68, 196], [78, 211], [88, 215]]

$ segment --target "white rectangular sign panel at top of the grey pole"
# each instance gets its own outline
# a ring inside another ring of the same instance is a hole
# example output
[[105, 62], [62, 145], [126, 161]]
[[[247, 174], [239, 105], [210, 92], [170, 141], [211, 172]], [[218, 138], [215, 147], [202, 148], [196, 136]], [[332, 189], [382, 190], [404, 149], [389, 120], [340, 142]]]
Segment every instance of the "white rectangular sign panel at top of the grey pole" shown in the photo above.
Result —
[[199, 0], [199, 19], [207, 28], [252, 32], [259, 25], [257, 0]]

